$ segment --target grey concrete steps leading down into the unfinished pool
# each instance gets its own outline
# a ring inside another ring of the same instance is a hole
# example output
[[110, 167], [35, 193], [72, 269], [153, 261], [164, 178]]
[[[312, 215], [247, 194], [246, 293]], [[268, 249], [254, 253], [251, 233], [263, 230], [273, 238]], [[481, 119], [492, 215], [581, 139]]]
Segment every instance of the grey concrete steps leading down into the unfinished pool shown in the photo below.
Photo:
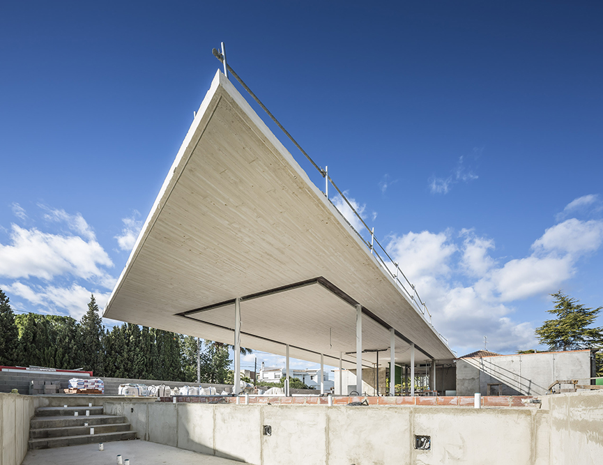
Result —
[[[91, 427], [94, 434], [90, 434]], [[40, 407], [29, 423], [29, 449], [136, 439], [136, 432], [130, 429], [125, 417], [103, 415], [102, 406]]]

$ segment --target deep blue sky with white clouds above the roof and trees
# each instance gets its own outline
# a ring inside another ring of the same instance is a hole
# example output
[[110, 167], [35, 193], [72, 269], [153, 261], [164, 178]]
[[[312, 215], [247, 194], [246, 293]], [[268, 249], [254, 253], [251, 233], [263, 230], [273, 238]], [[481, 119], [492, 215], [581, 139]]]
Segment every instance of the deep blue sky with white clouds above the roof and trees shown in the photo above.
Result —
[[484, 335], [493, 351], [533, 348], [551, 292], [603, 305], [602, 13], [594, 1], [4, 2], [0, 288], [17, 311], [79, 318], [91, 292], [104, 305], [223, 40], [452, 349]]

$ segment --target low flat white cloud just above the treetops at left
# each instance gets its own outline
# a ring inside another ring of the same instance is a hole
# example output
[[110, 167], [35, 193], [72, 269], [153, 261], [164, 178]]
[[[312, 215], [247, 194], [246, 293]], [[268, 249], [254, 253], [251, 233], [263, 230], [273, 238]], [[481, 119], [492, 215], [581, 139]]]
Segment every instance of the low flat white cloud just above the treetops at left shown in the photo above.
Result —
[[96, 302], [103, 302], [109, 298], [110, 293], [92, 292], [72, 283], [70, 287], [56, 286], [29, 286], [22, 282], [3, 285], [5, 291], [23, 298], [37, 307], [42, 313], [64, 314], [67, 312], [71, 317], [80, 319], [88, 310], [91, 294], [94, 294]]

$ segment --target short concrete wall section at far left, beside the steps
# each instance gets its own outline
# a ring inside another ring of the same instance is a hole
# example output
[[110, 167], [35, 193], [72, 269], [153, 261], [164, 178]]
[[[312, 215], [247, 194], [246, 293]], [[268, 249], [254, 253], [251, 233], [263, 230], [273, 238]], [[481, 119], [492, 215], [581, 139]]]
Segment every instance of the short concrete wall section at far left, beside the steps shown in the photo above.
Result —
[[20, 465], [27, 453], [36, 399], [0, 392], [0, 465]]

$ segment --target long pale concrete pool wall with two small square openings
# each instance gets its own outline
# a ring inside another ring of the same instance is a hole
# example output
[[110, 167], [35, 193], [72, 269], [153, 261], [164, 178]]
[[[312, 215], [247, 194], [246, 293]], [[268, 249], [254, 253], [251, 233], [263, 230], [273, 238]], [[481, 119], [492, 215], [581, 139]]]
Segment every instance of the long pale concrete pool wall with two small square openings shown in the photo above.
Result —
[[105, 413], [128, 417], [140, 439], [255, 465], [547, 465], [551, 448], [544, 408], [107, 402]]

